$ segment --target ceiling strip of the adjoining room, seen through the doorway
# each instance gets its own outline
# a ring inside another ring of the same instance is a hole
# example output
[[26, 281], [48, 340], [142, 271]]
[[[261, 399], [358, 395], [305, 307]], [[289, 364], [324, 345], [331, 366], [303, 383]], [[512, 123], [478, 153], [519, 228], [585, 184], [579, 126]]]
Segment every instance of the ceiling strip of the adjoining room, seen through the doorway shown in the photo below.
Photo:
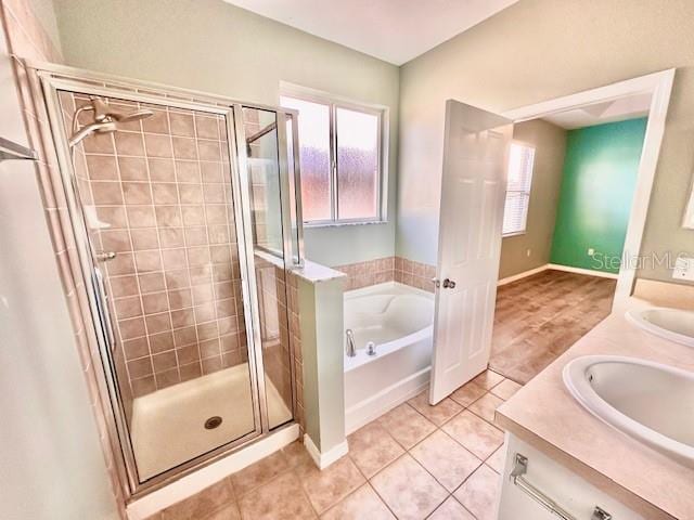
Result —
[[614, 101], [586, 105], [571, 110], [560, 112], [545, 116], [542, 119], [557, 127], [573, 130], [576, 128], [592, 127], [604, 122], [625, 121], [648, 115], [651, 107], [651, 93], [633, 94]]

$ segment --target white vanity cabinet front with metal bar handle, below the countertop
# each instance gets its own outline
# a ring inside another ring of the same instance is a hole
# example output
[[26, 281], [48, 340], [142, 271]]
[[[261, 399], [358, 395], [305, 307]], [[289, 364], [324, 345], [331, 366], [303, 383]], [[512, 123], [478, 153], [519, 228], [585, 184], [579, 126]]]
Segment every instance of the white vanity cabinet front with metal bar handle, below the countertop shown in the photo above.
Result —
[[[506, 433], [505, 447], [498, 520], [646, 520], [511, 433]], [[527, 460], [527, 466], [525, 474], [514, 483], [513, 471], [518, 454]], [[550, 510], [550, 503], [545, 507], [541, 503], [543, 498], [553, 502], [565, 516]], [[611, 517], [602, 516], [596, 506]]]

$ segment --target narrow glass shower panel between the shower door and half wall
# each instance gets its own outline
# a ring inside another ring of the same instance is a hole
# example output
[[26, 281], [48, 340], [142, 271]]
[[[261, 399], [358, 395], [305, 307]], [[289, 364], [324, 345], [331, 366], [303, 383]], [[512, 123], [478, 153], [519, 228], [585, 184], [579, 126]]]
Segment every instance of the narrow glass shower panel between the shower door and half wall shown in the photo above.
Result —
[[[262, 366], [267, 424], [277, 428], [293, 418], [293, 352], [290, 344], [285, 268], [294, 263], [293, 230], [287, 180], [293, 156], [287, 127], [274, 110], [244, 106], [239, 134], [240, 155], [245, 156], [245, 181], [249, 193], [250, 234], [258, 304], [256, 349]], [[243, 167], [242, 167], [243, 168]], [[244, 171], [242, 171], [242, 176]]]

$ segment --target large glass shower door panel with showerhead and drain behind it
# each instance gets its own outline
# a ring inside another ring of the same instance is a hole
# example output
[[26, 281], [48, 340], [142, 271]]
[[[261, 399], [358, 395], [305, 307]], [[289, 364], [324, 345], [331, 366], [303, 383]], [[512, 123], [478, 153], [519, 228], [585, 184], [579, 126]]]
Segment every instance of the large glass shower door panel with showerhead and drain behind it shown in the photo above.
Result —
[[[90, 96], [59, 93], [65, 133]], [[224, 108], [102, 96], [143, 120], [72, 151], [137, 481], [261, 432]], [[77, 125], [90, 122], [79, 113]], [[232, 123], [233, 128], [233, 123]], [[104, 298], [105, 297], [105, 298]]]

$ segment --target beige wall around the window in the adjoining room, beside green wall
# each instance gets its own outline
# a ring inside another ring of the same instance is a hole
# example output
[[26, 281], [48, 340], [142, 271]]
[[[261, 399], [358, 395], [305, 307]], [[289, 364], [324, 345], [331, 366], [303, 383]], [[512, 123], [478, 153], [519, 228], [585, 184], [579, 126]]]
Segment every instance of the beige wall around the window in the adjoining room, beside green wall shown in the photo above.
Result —
[[500, 278], [549, 263], [566, 153], [566, 130], [540, 119], [515, 125], [513, 140], [535, 146], [535, 166], [526, 232], [503, 238]]

